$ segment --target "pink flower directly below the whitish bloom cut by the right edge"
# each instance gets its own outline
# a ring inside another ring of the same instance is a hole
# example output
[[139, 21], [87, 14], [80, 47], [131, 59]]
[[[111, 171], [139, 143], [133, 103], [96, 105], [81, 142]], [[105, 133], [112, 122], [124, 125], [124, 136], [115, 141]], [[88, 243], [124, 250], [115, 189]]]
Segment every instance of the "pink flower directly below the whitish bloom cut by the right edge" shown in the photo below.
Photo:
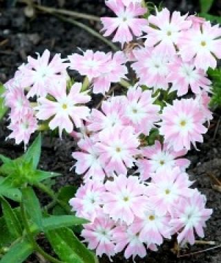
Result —
[[170, 91], [177, 91], [178, 96], [188, 93], [189, 88], [193, 93], [200, 93], [202, 89], [204, 91], [210, 90], [211, 81], [206, 78], [202, 69], [195, 69], [193, 61], [182, 62], [180, 57], [177, 57], [169, 65], [169, 70], [167, 80], [172, 82]]

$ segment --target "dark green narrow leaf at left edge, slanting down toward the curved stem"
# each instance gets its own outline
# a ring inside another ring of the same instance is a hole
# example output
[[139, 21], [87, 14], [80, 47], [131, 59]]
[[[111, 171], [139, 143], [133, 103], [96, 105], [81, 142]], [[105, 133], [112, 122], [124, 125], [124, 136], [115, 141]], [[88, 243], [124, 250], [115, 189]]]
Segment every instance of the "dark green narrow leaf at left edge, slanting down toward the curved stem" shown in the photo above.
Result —
[[6, 225], [8, 226], [8, 230], [10, 234], [15, 238], [21, 237], [22, 228], [20, 221], [17, 218], [17, 215], [12, 210], [8, 201], [6, 201], [6, 199], [4, 199], [3, 197], [0, 198], [1, 198], [1, 208], [3, 212], [3, 217], [6, 220]]

